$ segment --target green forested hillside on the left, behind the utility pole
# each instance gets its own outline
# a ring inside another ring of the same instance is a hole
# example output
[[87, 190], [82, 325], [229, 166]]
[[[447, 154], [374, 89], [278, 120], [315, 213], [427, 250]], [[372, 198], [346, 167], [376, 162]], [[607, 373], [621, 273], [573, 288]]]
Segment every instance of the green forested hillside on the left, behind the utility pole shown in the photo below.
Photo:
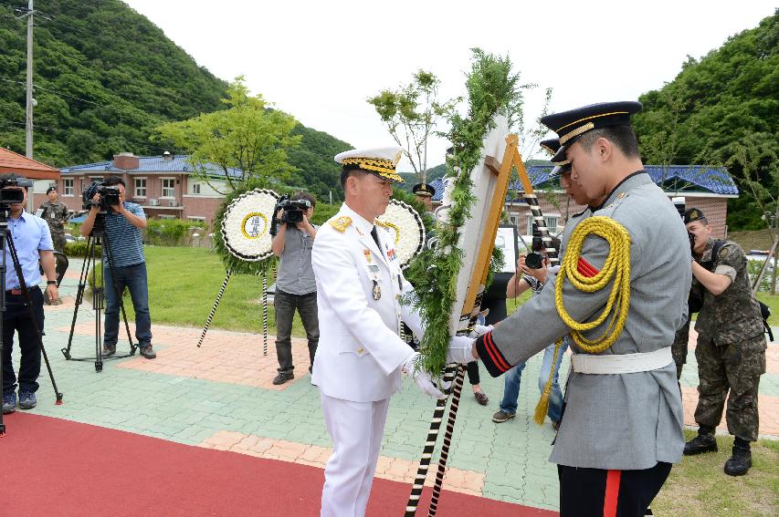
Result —
[[[152, 129], [225, 108], [226, 81], [119, 0], [37, 0], [36, 10], [37, 160], [61, 167], [122, 151], [185, 153], [151, 141]], [[0, 4], [0, 146], [24, 154], [26, 21], [17, 15]], [[300, 169], [291, 183], [327, 195], [338, 183], [332, 156], [349, 144], [303, 126], [295, 132], [303, 139], [289, 153]]]

